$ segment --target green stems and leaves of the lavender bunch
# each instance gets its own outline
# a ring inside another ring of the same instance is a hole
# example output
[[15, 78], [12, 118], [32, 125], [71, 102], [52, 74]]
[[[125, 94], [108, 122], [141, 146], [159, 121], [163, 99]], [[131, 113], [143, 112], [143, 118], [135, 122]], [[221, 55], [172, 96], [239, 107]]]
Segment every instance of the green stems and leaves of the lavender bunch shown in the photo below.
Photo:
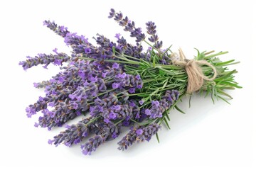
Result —
[[[176, 101], [169, 110], [164, 111], [164, 114], [161, 118], [149, 119], [144, 121], [144, 123], [137, 123], [135, 120], [134, 123], [139, 125], [148, 125], [149, 123], [155, 122], [161, 123], [164, 122], [167, 128], [170, 129], [168, 120], [169, 113], [172, 109], [176, 109], [177, 111], [184, 113], [180, 108], [176, 105], [181, 101], [183, 96], [186, 96], [186, 88], [188, 83], [188, 76], [186, 74], [186, 70], [182, 66], [178, 66], [170, 62], [169, 64], [161, 64], [161, 58], [164, 55], [171, 56], [169, 53], [171, 46], [165, 51], [160, 52], [159, 50], [154, 49], [149, 51], [150, 60], [145, 61], [142, 59], [137, 59], [132, 56], [127, 56], [124, 54], [120, 54], [113, 48], [113, 57], [118, 60], [105, 60], [105, 62], [119, 62], [124, 63], [124, 71], [127, 74], [137, 75], [139, 74], [144, 82], [143, 88], [137, 91], [137, 94], [130, 94], [130, 98], [141, 98], [144, 100], [141, 108], [149, 108], [151, 101], [159, 101], [161, 100], [161, 96], [164, 96], [167, 90], [175, 89], [180, 93], [180, 98]], [[229, 70], [228, 66], [231, 64], [238, 64], [239, 62], [235, 62], [235, 60], [228, 60], [222, 62], [218, 56], [224, 55], [228, 52], [218, 52], [215, 54], [213, 51], [211, 52], [198, 52], [197, 56], [194, 60], [206, 60], [210, 64], [212, 64], [218, 72], [218, 76], [213, 81], [204, 81], [203, 86], [196, 93], [206, 96], [210, 96], [212, 98], [213, 103], [215, 100], [222, 99], [223, 101], [228, 103], [228, 99], [232, 97], [225, 92], [225, 90], [232, 90], [235, 88], [242, 88], [238, 85], [238, 83], [234, 80], [234, 74], [237, 71]], [[211, 54], [211, 55], [210, 55]], [[87, 57], [82, 57], [85, 60], [92, 60]], [[171, 61], [171, 60], [170, 60]], [[206, 77], [213, 77], [213, 70], [206, 66], [202, 65], [201, 69], [203, 74]], [[196, 94], [195, 93], [195, 94]], [[189, 94], [190, 95], [190, 94]], [[191, 98], [190, 98], [191, 100]], [[190, 106], [190, 101], [189, 101]], [[156, 135], [158, 141], [159, 137]]]

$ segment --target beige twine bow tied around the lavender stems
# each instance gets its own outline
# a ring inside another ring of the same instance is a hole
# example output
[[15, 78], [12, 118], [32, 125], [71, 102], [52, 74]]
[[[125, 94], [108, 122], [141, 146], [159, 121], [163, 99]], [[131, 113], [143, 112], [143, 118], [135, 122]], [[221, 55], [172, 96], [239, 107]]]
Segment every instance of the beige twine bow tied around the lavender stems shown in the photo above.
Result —
[[[191, 94], [194, 91], [198, 91], [203, 86], [203, 81], [213, 81], [217, 76], [217, 71], [215, 67], [206, 60], [188, 60], [186, 59], [183, 51], [178, 49], [181, 60], [174, 60], [174, 64], [185, 67], [186, 73], [188, 74], [188, 84], [187, 84], [187, 93]], [[203, 74], [201, 65], [207, 65], [211, 69], [213, 69], [213, 77], [208, 78]]]

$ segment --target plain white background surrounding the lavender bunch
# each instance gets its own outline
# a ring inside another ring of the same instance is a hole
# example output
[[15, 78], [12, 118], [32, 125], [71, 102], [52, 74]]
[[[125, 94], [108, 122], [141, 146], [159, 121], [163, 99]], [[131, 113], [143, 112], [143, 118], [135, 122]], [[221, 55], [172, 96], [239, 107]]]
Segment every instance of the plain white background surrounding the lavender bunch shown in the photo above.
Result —
[[[115, 33], [128, 37], [107, 18], [110, 8], [122, 11], [143, 29], [144, 23], [155, 21], [165, 47], [182, 47], [187, 57], [196, 55], [193, 47], [201, 51], [228, 50], [230, 53], [222, 59], [241, 62], [233, 68], [239, 71], [235, 79], [243, 89], [228, 91], [234, 98], [231, 105], [223, 101], [213, 105], [210, 98], [193, 96], [188, 108], [188, 100], [184, 100], [179, 106], [186, 114], [171, 113], [171, 130], [162, 128], [160, 144], [153, 138], [120, 152], [117, 141], [121, 135], [90, 157], [82, 155], [79, 146], [48, 145], [48, 139], [62, 129], [49, 132], [34, 128], [37, 117], [26, 118], [25, 108], [43, 95], [43, 91], [33, 88], [33, 82], [49, 79], [58, 69], [40, 66], [24, 72], [18, 62], [38, 52], [48, 54], [55, 47], [60, 52], [70, 51], [62, 38], [43, 26], [45, 19], [84, 34], [91, 41], [96, 33], [112, 40]], [[255, 10], [252, 1], [1, 1], [0, 169], [253, 169]]]

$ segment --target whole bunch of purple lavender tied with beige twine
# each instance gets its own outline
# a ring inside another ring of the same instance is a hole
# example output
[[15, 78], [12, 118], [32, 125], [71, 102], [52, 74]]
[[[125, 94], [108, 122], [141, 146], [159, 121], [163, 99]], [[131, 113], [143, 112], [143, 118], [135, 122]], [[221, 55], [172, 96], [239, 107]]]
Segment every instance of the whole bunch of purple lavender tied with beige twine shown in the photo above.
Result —
[[[44, 21], [72, 48], [71, 55], [55, 49], [53, 54], [38, 54], [19, 63], [24, 70], [39, 64], [47, 68], [50, 63], [61, 69], [52, 79], [34, 84], [44, 88], [46, 96], [40, 96], [26, 108], [28, 118], [39, 111], [43, 113], [36, 127], [50, 130], [65, 126], [63, 132], [48, 140], [49, 144], [70, 147], [81, 143], [82, 153], [91, 154], [118, 137], [123, 126], [130, 130], [117, 143], [120, 150], [135, 142], [149, 141], [153, 135], [159, 140], [161, 125], [169, 128], [170, 111], [183, 113], [177, 103], [186, 94], [210, 95], [213, 102], [220, 98], [228, 103], [227, 99], [232, 97], [225, 90], [240, 88], [234, 81], [237, 71], [227, 67], [238, 62], [222, 62], [218, 58], [227, 52], [197, 50], [197, 56], [187, 60], [181, 49], [177, 54], [171, 51], [171, 46], [162, 48], [154, 22], [146, 23], [146, 38], [142, 29], [121, 12], [111, 9], [109, 18], [128, 31], [136, 44], [127, 43], [119, 34], [115, 36], [117, 42], [98, 34], [95, 46], [83, 35]], [[142, 42], [148, 45], [146, 50]], [[66, 124], [80, 115], [90, 117], [81, 118], [74, 125]]]

